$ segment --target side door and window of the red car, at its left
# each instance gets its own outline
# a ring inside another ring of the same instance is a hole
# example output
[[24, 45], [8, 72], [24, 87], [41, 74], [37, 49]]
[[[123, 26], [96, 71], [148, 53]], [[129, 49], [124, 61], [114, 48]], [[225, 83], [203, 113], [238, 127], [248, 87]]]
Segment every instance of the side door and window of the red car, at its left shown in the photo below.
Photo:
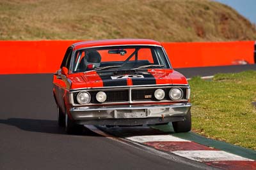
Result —
[[60, 110], [65, 113], [65, 101], [64, 97], [68, 92], [68, 80], [67, 77], [61, 73], [62, 67], [70, 68], [70, 60], [72, 57], [73, 48], [72, 46], [67, 49], [67, 52], [64, 55], [63, 61], [61, 62], [60, 69], [54, 74], [54, 97], [56, 103], [60, 107]]

